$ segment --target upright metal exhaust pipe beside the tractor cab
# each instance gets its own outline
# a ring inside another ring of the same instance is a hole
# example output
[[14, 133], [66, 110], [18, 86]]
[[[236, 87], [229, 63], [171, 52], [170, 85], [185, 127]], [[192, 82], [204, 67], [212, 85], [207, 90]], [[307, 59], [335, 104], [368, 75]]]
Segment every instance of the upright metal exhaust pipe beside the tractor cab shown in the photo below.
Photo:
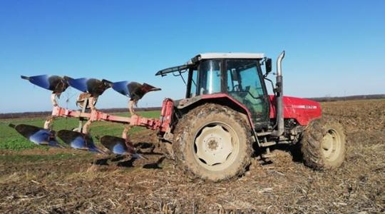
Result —
[[275, 97], [275, 111], [277, 116], [277, 129], [272, 132], [272, 136], [282, 136], [284, 133], [284, 116], [283, 116], [283, 83], [282, 83], [282, 59], [284, 51], [277, 58], [277, 80], [275, 83], [277, 96]]

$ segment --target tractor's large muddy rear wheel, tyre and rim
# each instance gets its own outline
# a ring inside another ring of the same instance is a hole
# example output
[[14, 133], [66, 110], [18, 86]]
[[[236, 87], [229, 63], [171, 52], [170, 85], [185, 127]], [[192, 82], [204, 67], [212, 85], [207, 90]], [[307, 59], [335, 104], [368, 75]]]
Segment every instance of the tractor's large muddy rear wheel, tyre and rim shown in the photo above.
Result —
[[207, 103], [191, 110], [178, 122], [174, 136], [178, 167], [190, 178], [230, 179], [250, 165], [250, 125], [226, 106]]

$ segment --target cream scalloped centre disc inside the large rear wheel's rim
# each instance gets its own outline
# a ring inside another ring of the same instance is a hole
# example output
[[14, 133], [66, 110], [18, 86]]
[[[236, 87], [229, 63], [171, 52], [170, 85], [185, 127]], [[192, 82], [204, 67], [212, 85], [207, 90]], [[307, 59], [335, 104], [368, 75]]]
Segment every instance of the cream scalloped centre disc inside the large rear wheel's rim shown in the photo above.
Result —
[[220, 125], [203, 128], [195, 146], [197, 157], [207, 165], [225, 163], [233, 150], [231, 134]]

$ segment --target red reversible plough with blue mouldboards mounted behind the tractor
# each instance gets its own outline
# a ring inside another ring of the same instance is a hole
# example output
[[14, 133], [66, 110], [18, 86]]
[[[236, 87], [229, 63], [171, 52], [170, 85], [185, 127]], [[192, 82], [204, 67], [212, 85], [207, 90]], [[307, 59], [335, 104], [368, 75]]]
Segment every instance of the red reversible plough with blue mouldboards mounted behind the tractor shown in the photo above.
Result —
[[[61, 77], [48, 75], [29, 77], [21, 76], [21, 78], [29, 80], [36, 86], [40, 86], [41, 88], [46, 88], [47, 90], [52, 91], [52, 113], [51, 116], [49, 116], [44, 122], [43, 128], [26, 124], [19, 124], [16, 126], [10, 124], [10, 126], [15, 128], [16, 131], [21, 133], [22, 136], [28, 138], [30, 141], [36, 144], [63, 148], [63, 146], [61, 146], [56, 139], [56, 137], [58, 137], [61, 138], [64, 143], [71, 146], [71, 148], [96, 153], [106, 153], [106, 151], [98, 148], [93, 142], [93, 138], [91, 137], [90, 133], [90, 126], [91, 123], [95, 121], [108, 121], [113, 123], [122, 123], [124, 126], [123, 133], [121, 138], [116, 136], [103, 136], [100, 138], [101, 144], [106, 147], [108, 151], [111, 151], [111, 153], [141, 157], [136, 153], [133, 144], [130, 143], [130, 138], [128, 136], [128, 131], [130, 128], [132, 126], [143, 126], [153, 130], [159, 130], [163, 132], [167, 131], [166, 127], [168, 126], [163, 126], [163, 124], [167, 124], [166, 120], [164, 120], [164, 118], [167, 118], [166, 112], [164, 110], [162, 113], [165, 117], [160, 119], [138, 116], [134, 111], [133, 106], [138, 103], [138, 100], [142, 98], [145, 93], [148, 93], [149, 91], [160, 90], [160, 88], [155, 88], [154, 86], [150, 86], [147, 83], [140, 84], [137, 82], [128, 81], [113, 83], [104, 79], [74, 79], [68, 76]], [[81, 91], [81, 94], [77, 99], [77, 104], [79, 107], [81, 107], [81, 111], [71, 110], [58, 106], [57, 98], [60, 98], [61, 93], [66, 91], [68, 86]], [[113, 88], [113, 90], [117, 91], [118, 93], [121, 93], [124, 96], [128, 96], [130, 98], [130, 101], [128, 102], [128, 109], [131, 115], [130, 117], [114, 116], [97, 110], [95, 105], [98, 97], [101, 96], [101, 94], [108, 88]], [[165, 105], [163, 106], [173, 105], [173, 101], [170, 99], [165, 99], [164, 102]], [[170, 103], [168, 104], [168, 102]], [[168, 114], [170, 114], [170, 112], [168, 112]], [[55, 118], [78, 118], [79, 126], [78, 128], [74, 128], [71, 131], [61, 130], [56, 133], [52, 130], [53, 121]], [[83, 121], [86, 121], [86, 123], [83, 124]]]

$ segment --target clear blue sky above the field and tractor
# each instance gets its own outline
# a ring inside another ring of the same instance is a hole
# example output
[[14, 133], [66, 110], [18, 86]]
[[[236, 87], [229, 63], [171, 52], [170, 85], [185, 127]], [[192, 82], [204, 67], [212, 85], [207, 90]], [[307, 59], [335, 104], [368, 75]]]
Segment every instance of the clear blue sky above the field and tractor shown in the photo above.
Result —
[[[0, 113], [51, 109], [50, 91], [20, 78], [39, 74], [150, 83], [163, 91], [139, 106], [160, 106], [183, 98], [185, 86], [155, 72], [203, 52], [262, 52], [275, 61], [284, 49], [290, 96], [385, 93], [384, 11], [381, 0], [0, 0]], [[77, 94], [69, 89], [61, 105], [74, 108]], [[97, 107], [126, 105], [108, 90]]]

